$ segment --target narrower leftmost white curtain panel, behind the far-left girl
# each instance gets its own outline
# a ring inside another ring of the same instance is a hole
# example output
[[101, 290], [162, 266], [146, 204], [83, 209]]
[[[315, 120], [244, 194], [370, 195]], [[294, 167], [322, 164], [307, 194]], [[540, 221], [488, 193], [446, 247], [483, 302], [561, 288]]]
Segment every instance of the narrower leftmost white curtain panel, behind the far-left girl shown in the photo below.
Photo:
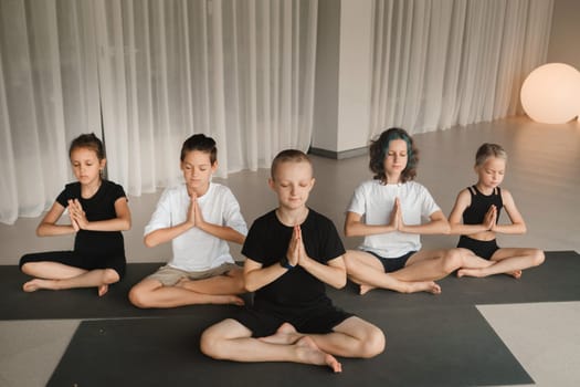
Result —
[[72, 177], [68, 142], [101, 130], [88, 14], [74, 0], [0, 1], [1, 222], [51, 206]]

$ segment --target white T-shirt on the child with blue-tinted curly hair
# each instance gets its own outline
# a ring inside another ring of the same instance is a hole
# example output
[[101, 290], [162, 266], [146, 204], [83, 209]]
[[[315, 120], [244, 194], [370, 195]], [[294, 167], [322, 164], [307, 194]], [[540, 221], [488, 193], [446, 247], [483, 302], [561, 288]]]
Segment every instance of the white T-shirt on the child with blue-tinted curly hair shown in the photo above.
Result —
[[[397, 197], [405, 224], [421, 224], [422, 218], [440, 210], [429, 190], [419, 182], [382, 185], [379, 180], [369, 180], [357, 187], [347, 211], [362, 216], [366, 224], [388, 224]], [[416, 233], [394, 231], [366, 236], [359, 249], [383, 258], [399, 258], [421, 250], [421, 240]]]

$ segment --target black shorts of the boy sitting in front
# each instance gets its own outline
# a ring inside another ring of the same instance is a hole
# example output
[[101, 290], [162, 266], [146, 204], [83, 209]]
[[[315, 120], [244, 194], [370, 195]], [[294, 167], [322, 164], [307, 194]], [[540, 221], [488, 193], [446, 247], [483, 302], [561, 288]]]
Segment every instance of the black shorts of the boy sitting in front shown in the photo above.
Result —
[[352, 316], [352, 313], [331, 304], [323, 304], [294, 313], [274, 313], [266, 308], [247, 306], [232, 318], [252, 331], [252, 337], [266, 337], [273, 335], [283, 323], [291, 323], [299, 333], [327, 334]]

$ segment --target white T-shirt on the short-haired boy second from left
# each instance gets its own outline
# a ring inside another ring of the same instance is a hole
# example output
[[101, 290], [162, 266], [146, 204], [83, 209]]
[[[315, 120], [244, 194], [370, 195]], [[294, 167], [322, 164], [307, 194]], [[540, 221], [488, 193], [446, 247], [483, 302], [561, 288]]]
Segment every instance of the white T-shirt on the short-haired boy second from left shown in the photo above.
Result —
[[[190, 202], [186, 185], [167, 188], [145, 227], [145, 234], [184, 222]], [[230, 188], [210, 182], [208, 191], [198, 198], [198, 203], [207, 222], [228, 226], [247, 234], [240, 205]], [[175, 238], [171, 247], [173, 257], [168, 264], [180, 270], [204, 271], [234, 262], [228, 242], [196, 227]]]

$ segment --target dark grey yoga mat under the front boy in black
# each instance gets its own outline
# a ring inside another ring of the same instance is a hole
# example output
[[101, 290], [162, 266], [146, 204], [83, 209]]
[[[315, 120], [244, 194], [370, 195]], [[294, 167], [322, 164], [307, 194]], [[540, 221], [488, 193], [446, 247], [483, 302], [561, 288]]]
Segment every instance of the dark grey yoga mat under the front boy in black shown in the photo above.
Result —
[[375, 305], [360, 313], [387, 351], [345, 359], [342, 374], [291, 363], [213, 360], [201, 332], [222, 316], [197, 314], [83, 322], [49, 386], [489, 386], [531, 378], [474, 306]]

